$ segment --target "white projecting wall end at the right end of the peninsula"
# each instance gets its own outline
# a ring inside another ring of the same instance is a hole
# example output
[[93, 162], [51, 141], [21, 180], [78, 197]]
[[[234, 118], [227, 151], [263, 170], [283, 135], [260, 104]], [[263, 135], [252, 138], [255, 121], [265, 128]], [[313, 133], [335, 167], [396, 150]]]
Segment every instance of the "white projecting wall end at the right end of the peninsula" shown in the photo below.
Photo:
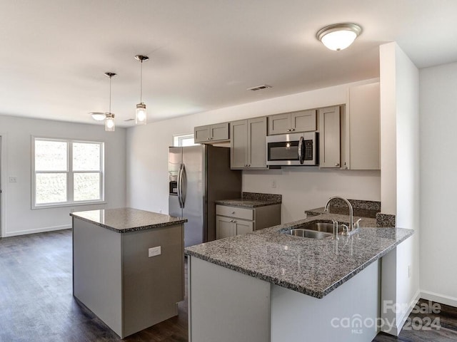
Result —
[[420, 294], [418, 68], [396, 43], [380, 47], [380, 67], [381, 207], [396, 213], [397, 227], [416, 231], [383, 259], [383, 300], [403, 308], [388, 313], [396, 324], [384, 331], [398, 334]]

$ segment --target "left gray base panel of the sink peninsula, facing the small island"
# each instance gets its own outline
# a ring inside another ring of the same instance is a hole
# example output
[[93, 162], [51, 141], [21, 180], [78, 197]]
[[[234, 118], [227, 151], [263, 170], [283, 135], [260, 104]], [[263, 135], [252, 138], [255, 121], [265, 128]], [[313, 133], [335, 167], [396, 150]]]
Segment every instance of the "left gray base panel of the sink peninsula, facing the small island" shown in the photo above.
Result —
[[196, 257], [188, 268], [189, 342], [270, 341], [269, 283]]

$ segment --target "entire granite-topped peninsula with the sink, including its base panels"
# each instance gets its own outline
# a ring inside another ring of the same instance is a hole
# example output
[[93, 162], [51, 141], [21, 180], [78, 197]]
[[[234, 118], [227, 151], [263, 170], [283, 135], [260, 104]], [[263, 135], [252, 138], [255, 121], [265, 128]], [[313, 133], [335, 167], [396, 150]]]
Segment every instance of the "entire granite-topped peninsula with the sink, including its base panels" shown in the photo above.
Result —
[[331, 219], [348, 217], [322, 214], [188, 247], [190, 341], [371, 341], [379, 259], [413, 230], [362, 219], [351, 237], [281, 234]]

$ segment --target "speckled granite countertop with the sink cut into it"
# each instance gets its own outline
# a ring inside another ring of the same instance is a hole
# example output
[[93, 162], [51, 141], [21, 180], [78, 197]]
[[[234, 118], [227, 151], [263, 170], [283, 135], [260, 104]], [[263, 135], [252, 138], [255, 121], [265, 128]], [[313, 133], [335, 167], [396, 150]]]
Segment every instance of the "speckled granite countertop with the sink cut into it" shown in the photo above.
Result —
[[[353, 237], [307, 239], [280, 232], [306, 222], [348, 216], [321, 214], [236, 237], [187, 247], [185, 253], [249, 276], [323, 298], [369, 264], [411, 237], [412, 229], [376, 227], [376, 219], [362, 218]], [[354, 217], [354, 221], [358, 217]]]

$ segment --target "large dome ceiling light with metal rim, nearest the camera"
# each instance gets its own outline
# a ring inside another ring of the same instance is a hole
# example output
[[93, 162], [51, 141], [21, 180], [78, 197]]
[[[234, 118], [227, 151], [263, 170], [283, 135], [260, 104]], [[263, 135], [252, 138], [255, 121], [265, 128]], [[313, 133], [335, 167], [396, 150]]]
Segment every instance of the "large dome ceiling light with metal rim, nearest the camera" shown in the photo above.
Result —
[[361, 32], [362, 28], [356, 24], [341, 23], [321, 28], [316, 37], [330, 50], [340, 51], [350, 46]]

